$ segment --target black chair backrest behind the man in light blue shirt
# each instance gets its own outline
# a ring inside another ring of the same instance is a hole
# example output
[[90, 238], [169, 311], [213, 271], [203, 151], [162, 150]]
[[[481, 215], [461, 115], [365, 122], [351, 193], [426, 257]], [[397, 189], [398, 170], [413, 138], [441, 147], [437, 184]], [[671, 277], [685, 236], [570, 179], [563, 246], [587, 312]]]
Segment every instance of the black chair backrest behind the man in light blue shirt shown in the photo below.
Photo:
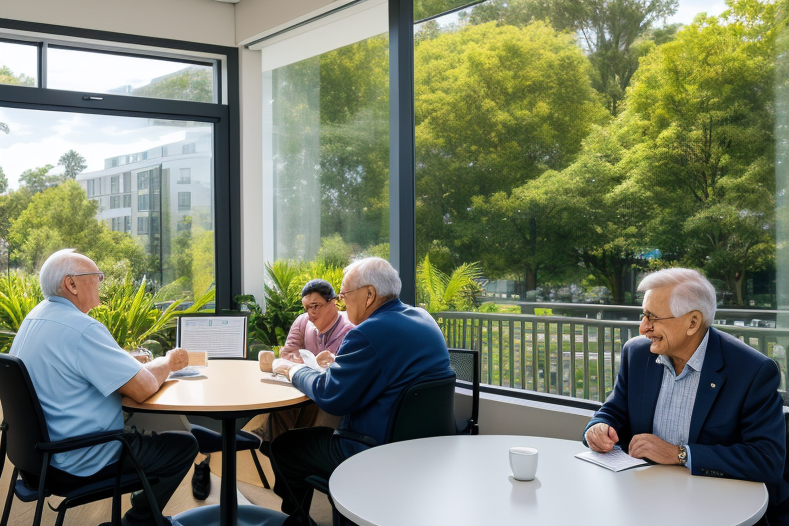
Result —
[[49, 442], [47, 420], [27, 367], [17, 356], [0, 354], [0, 404], [6, 421], [6, 454], [11, 464], [24, 472], [40, 473], [43, 455], [39, 442]]

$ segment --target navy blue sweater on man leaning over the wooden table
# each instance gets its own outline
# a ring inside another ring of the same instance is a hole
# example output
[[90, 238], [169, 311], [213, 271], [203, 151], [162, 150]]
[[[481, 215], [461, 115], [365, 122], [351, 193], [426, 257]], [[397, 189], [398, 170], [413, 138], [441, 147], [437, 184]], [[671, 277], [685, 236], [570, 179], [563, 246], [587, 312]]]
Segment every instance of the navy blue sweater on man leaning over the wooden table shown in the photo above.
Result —
[[[346, 334], [335, 364], [323, 373], [301, 367], [293, 383], [323, 411], [344, 415], [339, 429], [383, 443], [402, 391], [421, 377], [451, 374], [447, 343], [436, 320], [395, 299]], [[356, 442], [343, 448], [349, 455], [365, 449]]]

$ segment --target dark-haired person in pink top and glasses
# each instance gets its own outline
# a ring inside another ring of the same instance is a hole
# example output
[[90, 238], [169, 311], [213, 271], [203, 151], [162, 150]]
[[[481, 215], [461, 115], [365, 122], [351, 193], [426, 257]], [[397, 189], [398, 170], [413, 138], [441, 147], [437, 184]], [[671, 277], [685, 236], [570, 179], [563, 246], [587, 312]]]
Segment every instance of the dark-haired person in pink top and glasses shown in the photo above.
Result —
[[[279, 349], [279, 357], [301, 364], [299, 349], [307, 349], [316, 356], [318, 364], [327, 366], [335, 361], [342, 339], [354, 325], [348, 321], [345, 312], [338, 311], [335, 289], [323, 279], [313, 279], [304, 285], [301, 304], [305, 312], [290, 326], [285, 345]], [[267, 422], [255, 431], [264, 438], [260, 450], [268, 453], [266, 442], [289, 429], [312, 427], [319, 416], [320, 409], [315, 404], [270, 413]]]

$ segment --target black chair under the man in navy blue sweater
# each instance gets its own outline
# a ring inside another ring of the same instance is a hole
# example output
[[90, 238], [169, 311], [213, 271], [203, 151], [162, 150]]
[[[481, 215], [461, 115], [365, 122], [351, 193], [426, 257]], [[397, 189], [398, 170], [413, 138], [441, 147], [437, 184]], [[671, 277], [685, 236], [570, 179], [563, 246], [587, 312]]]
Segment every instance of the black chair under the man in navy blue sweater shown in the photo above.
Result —
[[[455, 375], [442, 379], [420, 379], [413, 382], [402, 392], [396, 408], [387, 425], [387, 438], [383, 442], [400, 442], [414, 438], [428, 438], [454, 435], [457, 432], [454, 419], [454, 384]], [[366, 446], [379, 446], [375, 438], [350, 431], [335, 431], [335, 435]], [[329, 481], [323, 477], [312, 475], [305, 481], [316, 490], [329, 495]], [[342, 517], [335, 503], [331, 500], [332, 518], [335, 526], [353, 524]]]

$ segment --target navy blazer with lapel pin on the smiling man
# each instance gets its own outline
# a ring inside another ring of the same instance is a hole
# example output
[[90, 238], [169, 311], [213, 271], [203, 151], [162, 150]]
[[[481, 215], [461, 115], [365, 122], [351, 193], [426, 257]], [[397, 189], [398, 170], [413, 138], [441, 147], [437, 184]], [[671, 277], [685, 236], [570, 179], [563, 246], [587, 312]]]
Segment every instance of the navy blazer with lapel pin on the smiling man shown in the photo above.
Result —
[[[596, 423], [608, 423], [623, 450], [634, 435], [653, 433], [664, 366], [656, 362], [650, 345], [647, 338], [625, 344], [614, 390], [584, 433]], [[786, 430], [780, 378], [773, 360], [709, 329], [690, 417], [691, 474], [766, 483], [772, 505], [789, 497], [789, 483], [783, 479]]]

